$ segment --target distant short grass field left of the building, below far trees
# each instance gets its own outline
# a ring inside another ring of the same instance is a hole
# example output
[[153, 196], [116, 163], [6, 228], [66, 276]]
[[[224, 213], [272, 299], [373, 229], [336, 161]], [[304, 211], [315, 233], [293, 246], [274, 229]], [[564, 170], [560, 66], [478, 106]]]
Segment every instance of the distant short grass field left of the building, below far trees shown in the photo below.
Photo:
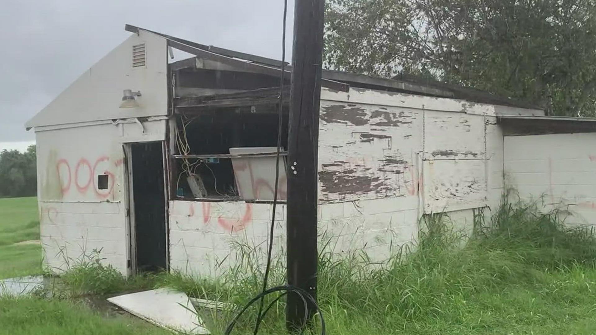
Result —
[[41, 273], [41, 246], [18, 244], [30, 240], [39, 240], [37, 198], [0, 198], [0, 278]]

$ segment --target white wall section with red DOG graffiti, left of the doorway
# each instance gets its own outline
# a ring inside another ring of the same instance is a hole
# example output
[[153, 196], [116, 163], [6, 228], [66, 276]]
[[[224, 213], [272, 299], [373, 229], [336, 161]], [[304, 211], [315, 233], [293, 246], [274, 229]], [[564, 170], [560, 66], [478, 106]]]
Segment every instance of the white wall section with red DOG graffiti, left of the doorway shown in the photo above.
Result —
[[[128, 274], [123, 143], [165, 136], [164, 120], [143, 124], [125, 119], [36, 129], [41, 241], [52, 271], [100, 250], [101, 262]], [[100, 189], [98, 175], [108, 176], [106, 189]]]

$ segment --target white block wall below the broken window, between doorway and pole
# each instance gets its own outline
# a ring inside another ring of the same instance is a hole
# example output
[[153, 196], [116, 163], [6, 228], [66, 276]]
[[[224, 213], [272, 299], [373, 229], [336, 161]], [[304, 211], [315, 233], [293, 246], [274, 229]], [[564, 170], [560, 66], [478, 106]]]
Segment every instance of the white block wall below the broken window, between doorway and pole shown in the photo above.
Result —
[[[170, 201], [170, 269], [215, 277], [248, 261], [243, 252], [250, 249], [250, 261], [264, 264], [272, 207], [244, 201]], [[275, 218], [273, 256], [278, 257], [285, 249], [285, 204], [277, 204]]]

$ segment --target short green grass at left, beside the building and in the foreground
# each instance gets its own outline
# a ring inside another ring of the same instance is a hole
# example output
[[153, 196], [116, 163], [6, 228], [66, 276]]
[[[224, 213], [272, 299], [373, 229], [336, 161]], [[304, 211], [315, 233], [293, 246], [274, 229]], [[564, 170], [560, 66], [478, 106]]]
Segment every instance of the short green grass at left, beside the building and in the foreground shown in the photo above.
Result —
[[[35, 197], [0, 198], [0, 279], [41, 274]], [[172, 334], [135, 317], [94, 311], [76, 299], [0, 296], [0, 334]]]

